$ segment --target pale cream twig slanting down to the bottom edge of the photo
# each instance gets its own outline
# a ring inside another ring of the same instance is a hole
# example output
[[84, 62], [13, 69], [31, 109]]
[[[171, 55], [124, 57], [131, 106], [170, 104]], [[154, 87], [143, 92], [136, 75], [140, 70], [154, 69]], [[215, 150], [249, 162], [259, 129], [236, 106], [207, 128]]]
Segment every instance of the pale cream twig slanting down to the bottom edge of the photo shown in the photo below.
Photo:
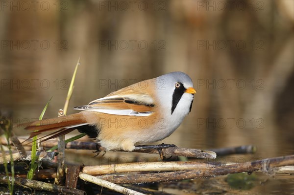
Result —
[[84, 180], [84, 181], [95, 183], [95, 184], [97, 184], [99, 186], [102, 186], [104, 188], [108, 188], [108, 189], [114, 190], [116, 192], [122, 193], [124, 195], [144, 195], [144, 194], [139, 193], [137, 191], [134, 191], [134, 190], [131, 190], [131, 189], [116, 185], [114, 183], [111, 183], [109, 181], [105, 181], [103, 179], [99, 179], [99, 178], [97, 178], [95, 176], [92, 176], [92, 175], [89, 175], [89, 174], [86, 174], [86, 173], [80, 173], [79, 178]]

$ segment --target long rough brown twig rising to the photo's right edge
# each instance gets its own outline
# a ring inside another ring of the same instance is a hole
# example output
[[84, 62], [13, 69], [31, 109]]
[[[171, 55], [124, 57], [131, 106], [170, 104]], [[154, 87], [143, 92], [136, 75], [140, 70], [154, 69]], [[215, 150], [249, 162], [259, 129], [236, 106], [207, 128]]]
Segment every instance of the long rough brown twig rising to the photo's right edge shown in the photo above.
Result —
[[264, 160], [257, 160], [214, 168], [199, 168], [198, 170], [191, 171], [148, 174], [100, 175], [96, 177], [116, 184], [153, 183], [196, 179], [202, 177], [225, 175], [230, 173], [253, 172], [258, 170], [265, 173], [270, 173], [273, 170], [271, 168], [287, 165], [294, 165], [294, 155], [268, 158]]

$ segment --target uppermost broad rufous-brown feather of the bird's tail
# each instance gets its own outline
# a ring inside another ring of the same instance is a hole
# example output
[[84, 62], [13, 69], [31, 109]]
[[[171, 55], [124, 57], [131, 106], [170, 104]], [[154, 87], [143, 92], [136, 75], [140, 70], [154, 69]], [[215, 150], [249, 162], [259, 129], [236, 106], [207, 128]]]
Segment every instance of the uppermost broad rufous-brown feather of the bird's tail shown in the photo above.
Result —
[[81, 113], [76, 113], [68, 116], [35, 121], [29, 124], [25, 129], [36, 130], [37, 132], [35, 132], [35, 134], [40, 134], [48, 130], [60, 129], [83, 123], [87, 123], [84, 116]]

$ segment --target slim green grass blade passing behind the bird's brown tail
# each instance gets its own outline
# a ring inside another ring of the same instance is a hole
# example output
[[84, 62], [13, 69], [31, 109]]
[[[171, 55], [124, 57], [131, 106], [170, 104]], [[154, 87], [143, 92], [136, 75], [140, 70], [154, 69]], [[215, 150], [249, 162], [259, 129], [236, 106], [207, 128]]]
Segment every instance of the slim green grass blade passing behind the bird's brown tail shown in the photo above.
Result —
[[[39, 120], [42, 120], [43, 119], [43, 116], [45, 114], [45, 111], [46, 109], [48, 108], [48, 105], [51, 101], [52, 97], [49, 99], [49, 101], [47, 102], [46, 106], [44, 107], [40, 117], [39, 117]], [[27, 179], [32, 179], [33, 176], [34, 176], [34, 172], [35, 170], [37, 169], [38, 167], [38, 163], [36, 163], [36, 161], [38, 160], [38, 156], [36, 156], [36, 151], [37, 151], [37, 140], [38, 140], [38, 137], [37, 135], [33, 137], [33, 143], [32, 143], [32, 153], [31, 153], [31, 165], [30, 165], [30, 169], [27, 173]]]

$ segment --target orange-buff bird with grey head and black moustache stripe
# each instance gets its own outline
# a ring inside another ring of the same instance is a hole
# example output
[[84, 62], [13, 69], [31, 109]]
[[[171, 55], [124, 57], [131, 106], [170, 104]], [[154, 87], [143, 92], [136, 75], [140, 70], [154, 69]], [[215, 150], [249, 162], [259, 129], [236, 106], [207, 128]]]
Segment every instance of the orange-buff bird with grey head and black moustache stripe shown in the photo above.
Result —
[[35, 121], [25, 129], [33, 131], [30, 137], [54, 130], [46, 140], [77, 129], [106, 151], [132, 152], [170, 136], [191, 112], [195, 93], [186, 73], [171, 72], [74, 107], [78, 113]]

